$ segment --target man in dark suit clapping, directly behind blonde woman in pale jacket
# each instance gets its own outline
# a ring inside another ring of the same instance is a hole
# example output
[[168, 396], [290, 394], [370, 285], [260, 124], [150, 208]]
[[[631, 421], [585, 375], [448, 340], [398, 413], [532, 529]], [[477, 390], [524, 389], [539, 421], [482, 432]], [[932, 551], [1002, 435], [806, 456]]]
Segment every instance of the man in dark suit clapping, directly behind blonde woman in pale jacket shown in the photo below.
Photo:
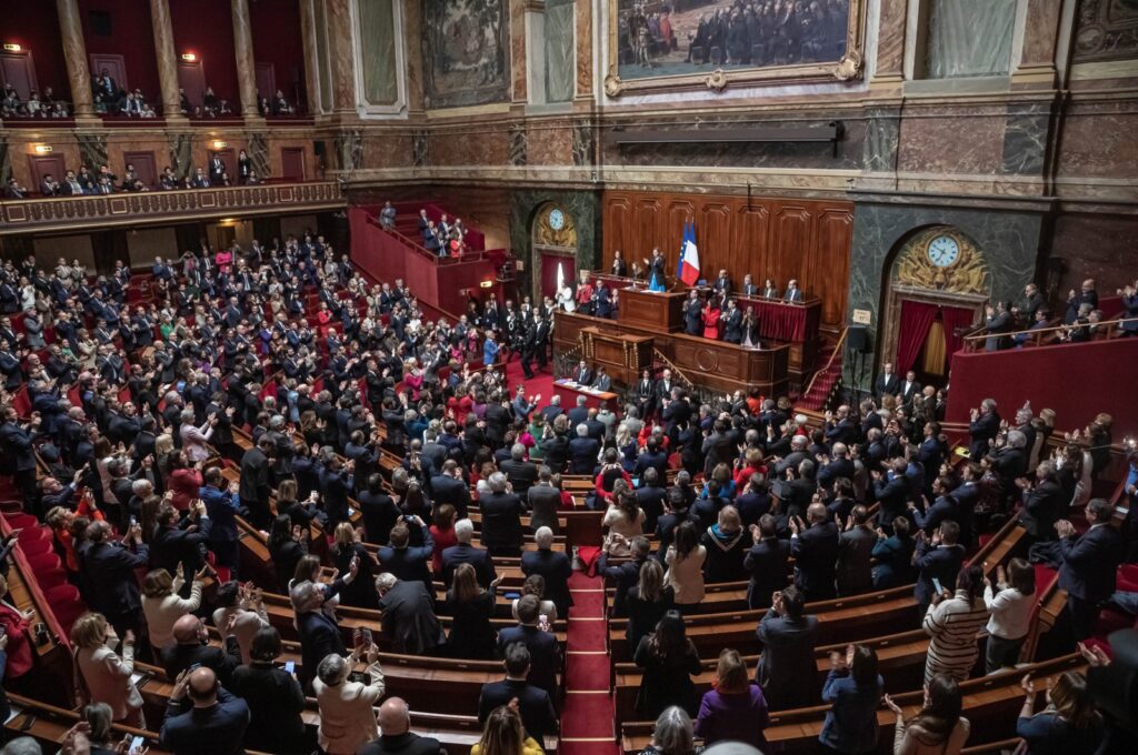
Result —
[[119, 637], [140, 632], [142, 596], [134, 570], [149, 565], [149, 548], [142, 542], [142, 525], [135, 524], [122, 541], [112, 542], [108, 522], [92, 522], [86, 530], [91, 546], [83, 551], [80, 572], [90, 587], [91, 607], [107, 617]]

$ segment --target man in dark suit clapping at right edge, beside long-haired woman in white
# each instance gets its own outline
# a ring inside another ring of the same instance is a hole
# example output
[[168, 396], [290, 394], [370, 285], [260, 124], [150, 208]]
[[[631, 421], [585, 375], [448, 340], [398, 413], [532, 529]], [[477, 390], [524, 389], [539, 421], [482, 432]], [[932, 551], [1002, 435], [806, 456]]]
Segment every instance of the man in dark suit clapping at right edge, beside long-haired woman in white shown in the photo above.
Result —
[[1113, 516], [1110, 501], [1094, 498], [1087, 504], [1090, 529], [1081, 537], [1066, 520], [1055, 524], [1063, 555], [1059, 587], [1067, 592], [1066, 611], [1077, 640], [1090, 637], [1098, 606], [1114, 594], [1116, 571], [1125, 556], [1127, 541], [1111, 524]]

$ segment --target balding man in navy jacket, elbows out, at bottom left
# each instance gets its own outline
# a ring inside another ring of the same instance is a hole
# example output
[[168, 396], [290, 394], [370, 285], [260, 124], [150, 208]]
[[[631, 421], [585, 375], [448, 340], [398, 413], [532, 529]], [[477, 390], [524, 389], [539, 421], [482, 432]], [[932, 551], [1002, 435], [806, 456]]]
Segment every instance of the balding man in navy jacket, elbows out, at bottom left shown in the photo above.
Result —
[[174, 755], [242, 753], [248, 725], [249, 706], [203, 666], [178, 678], [158, 742]]

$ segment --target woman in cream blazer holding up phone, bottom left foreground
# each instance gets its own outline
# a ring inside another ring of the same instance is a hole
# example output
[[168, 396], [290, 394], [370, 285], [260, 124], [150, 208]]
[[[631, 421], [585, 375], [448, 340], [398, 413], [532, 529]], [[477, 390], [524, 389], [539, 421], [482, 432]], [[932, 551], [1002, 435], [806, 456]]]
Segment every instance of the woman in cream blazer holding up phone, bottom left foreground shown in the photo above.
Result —
[[[352, 664], [364, 653], [368, 661], [366, 685], [348, 681]], [[320, 705], [320, 747], [328, 755], [355, 755], [361, 747], [379, 737], [376, 712], [384, 697], [384, 672], [379, 667], [379, 648], [356, 648], [347, 658], [335, 653], [316, 666], [312, 689]]]

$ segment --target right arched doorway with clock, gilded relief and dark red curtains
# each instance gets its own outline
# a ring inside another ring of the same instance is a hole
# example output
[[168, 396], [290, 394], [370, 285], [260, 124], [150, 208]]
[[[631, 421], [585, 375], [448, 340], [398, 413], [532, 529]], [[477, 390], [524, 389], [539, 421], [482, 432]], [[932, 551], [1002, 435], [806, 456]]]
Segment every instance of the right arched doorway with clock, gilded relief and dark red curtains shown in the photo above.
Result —
[[933, 225], [900, 243], [887, 275], [881, 362], [943, 385], [959, 331], [982, 321], [991, 298], [983, 251], [958, 229]]

